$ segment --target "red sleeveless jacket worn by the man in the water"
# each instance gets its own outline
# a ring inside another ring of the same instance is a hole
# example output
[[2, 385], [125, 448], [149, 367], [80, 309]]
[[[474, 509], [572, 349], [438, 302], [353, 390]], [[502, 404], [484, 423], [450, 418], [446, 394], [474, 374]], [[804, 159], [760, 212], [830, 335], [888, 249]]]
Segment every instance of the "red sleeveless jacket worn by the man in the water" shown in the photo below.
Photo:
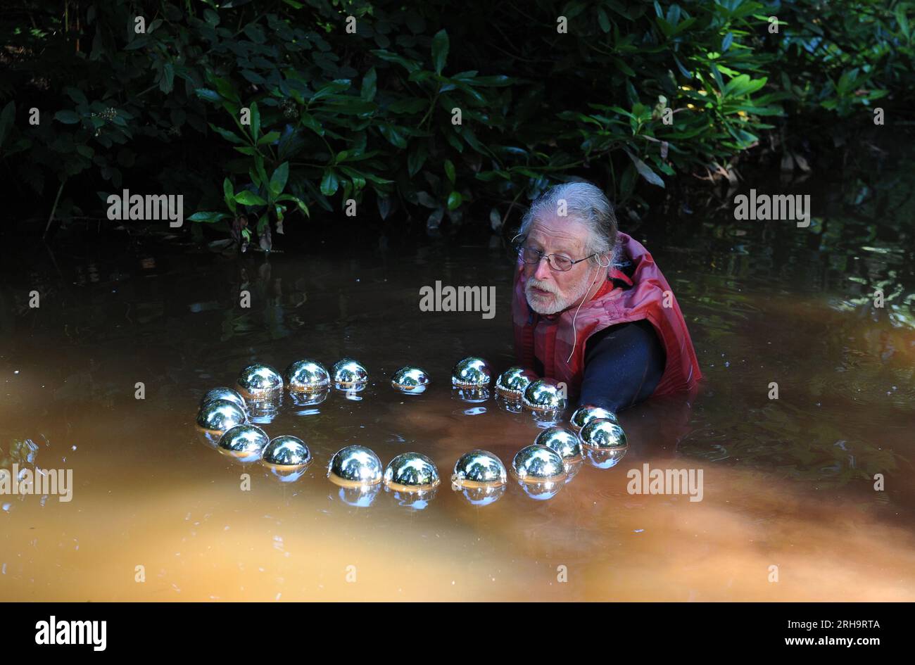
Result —
[[[611, 271], [597, 294], [578, 311], [575, 333], [572, 318], [577, 305], [548, 316], [539, 315], [528, 306], [524, 295], [524, 263], [519, 259], [511, 297], [515, 355], [529, 368], [533, 368], [534, 357], [540, 359], [544, 364], [544, 375], [556, 381], [565, 381], [568, 393], [576, 395], [585, 373], [587, 338], [606, 327], [645, 318], [651, 322], [667, 354], [664, 373], [652, 396], [689, 390], [702, 379], [702, 372], [699, 371], [693, 341], [670, 284], [667, 284], [651, 254], [638, 241], [619, 233], [619, 242], [624, 260], [635, 265], [632, 279], [619, 271]], [[626, 285], [616, 286], [614, 279]], [[667, 307], [664, 306], [665, 292], [669, 293]], [[566, 362], [573, 343], [575, 352]]]

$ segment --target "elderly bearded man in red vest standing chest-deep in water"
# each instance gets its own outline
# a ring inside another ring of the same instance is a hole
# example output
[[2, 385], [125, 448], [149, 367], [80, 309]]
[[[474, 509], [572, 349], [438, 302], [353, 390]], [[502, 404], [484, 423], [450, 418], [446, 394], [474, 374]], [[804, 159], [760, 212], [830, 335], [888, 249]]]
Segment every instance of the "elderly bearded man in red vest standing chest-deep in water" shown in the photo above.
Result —
[[619, 411], [702, 378], [671, 287], [588, 182], [557, 185], [515, 236], [515, 353], [579, 404]]

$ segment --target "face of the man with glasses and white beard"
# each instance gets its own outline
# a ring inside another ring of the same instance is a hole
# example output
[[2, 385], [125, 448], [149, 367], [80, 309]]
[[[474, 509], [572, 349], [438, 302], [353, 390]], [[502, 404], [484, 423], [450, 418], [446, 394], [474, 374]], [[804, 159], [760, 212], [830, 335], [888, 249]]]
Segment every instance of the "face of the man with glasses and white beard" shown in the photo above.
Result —
[[[544, 215], [533, 221], [526, 247], [544, 254], [562, 254], [577, 261], [586, 256], [587, 228], [570, 217]], [[555, 314], [577, 305], [586, 295], [599, 268], [591, 262], [576, 263], [561, 273], [553, 270], [544, 258], [540, 263], [522, 263], [524, 295], [537, 314]]]

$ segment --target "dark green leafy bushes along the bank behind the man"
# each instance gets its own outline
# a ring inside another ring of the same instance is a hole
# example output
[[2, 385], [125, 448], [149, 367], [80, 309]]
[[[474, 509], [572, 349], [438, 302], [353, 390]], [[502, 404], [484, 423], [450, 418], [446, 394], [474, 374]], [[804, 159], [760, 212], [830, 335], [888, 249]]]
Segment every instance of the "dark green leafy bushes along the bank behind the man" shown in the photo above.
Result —
[[79, 211], [143, 178], [189, 220], [261, 235], [349, 199], [497, 228], [570, 176], [644, 205], [792, 119], [834, 132], [901, 109], [915, 82], [910, 2], [25, 5], [0, 18], [0, 159], [21, 193], [73, 183]]

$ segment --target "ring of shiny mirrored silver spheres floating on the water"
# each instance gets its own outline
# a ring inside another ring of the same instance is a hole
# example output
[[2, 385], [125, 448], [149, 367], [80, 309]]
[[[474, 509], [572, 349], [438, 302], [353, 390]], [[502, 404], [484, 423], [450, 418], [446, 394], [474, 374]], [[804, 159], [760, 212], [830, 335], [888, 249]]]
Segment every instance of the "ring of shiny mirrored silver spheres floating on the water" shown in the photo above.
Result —
[[[430, 383], [425, 370], [406, 366], [393, 373], [391, 385], [405, 394], [419, 394]], [[274, 400], [284, 390], [296, 403], [323, 402], [331, 389], [358, 392], [369, 383], [369, 372], [355, 359], [339, 360], [328, 371], [316, 360], [296, 360], [280, 374], [269, 365], [255, 363], [239, 374], [234, 388], [208, 391], [200, 400], [197, 425], [216, 448], [242, 463], [260, 462], [285, 482], [297, 480], [313, 462], [305, 441], [284, 434], [270, 438], [251, 423], [251, 408]], [[490, 398], [492, 371], [486, 360], [461, 359], [452, 370], [451, 384], [465, 402]], [[552, 424], [511, 460], [511, 477], [534, 499], [549, 499], [572, 479], [587, 458], [598, 468], [615, 466], [629, 449], [617, 416], [593, 404], [579, 406], [568, 424], [555, 424], [565, 411], [565, 391], [552, 379], [540, 379], [531, 370], [511, 367], [495, 380], [495, 397], [512, 413], [528, 411], [534, 420]], [[422, 499], [440, 483], [438, 469], [429, 457], [402, 453], [385, 467], [363, 445], [347, 445], [330, 457], [328, 479], [355, 492], [380, 487]], [[509, 471], [498, 456], [486, 450], [471, 450], [458, 458], [451, 474], [452, 487], [464, 491], [477, 505], [498, 499], [508, 482]], [[358, 500], [354, 505], [359, 505]]]

